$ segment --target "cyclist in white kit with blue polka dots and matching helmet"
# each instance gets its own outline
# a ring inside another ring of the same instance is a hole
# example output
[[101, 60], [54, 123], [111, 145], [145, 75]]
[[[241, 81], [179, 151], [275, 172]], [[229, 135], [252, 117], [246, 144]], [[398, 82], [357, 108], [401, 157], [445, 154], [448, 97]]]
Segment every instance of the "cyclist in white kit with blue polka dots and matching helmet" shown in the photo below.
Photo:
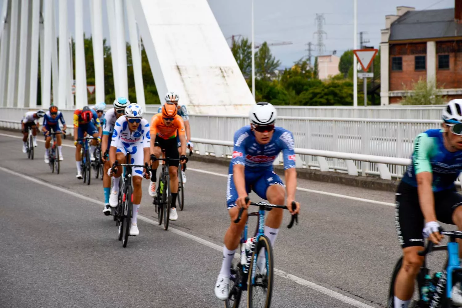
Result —
[[[124, 163], [127, 154], [130, 154], [130, 163], [144, 165], [150, 160], [150, 141], [149, 123], [142, 118], [143, 109], [138, 104], [130, 104], [125, 108], [125, 115], [116, 121], [114, 132], [112, 133], [111, 147], [109, 150], [109, 162], [112, 166], [116, 160]], [[117, 206], [117, 196], [119, 194], [119, 180], [122, 175], [121, 167], [118, 167], [114, 177], [114, 185], [109, 197], [109, 205]], [[111, 170], [111, 169], [110, 169]], [[109, 171], [110, 172], [110, 171]], [[134, 167], [132, 171], [133, 181], [133, 215], [130, 225], [130, 235], [137, 236], [140, 234], [136, 224], [138, 209], [141, 203], [141, 179], [150, 178], [150, 173], [144, 168]]]

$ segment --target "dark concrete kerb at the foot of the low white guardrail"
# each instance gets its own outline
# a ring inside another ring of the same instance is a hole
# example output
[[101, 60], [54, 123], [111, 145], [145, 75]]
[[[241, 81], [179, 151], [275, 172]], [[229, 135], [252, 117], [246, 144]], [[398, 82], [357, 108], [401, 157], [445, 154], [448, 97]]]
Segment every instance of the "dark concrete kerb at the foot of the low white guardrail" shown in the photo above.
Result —
[[[204, 162], [204, 163], [216, 163], [219, 165], [229, 166], [231, 159], [224, 157], [214, 157], [208, 155], [197, 155], [194, 154], [189, 156], [190, 160]], [[284, 175], [284, 167], [274, 166], [274, 172], [278, 175]], [[297, 177], [301, 179], [321, 181], [327, 183], [342, 184], [353, 187], [369, 188], [374, 190], [383, 190], [389, 192], [395, 192], [400, 181], [396, 180], [382, 180], [373, 176], [354, 176], [347, 175], [339, 172], [322, 172], [315, 169], [298, 168]]]

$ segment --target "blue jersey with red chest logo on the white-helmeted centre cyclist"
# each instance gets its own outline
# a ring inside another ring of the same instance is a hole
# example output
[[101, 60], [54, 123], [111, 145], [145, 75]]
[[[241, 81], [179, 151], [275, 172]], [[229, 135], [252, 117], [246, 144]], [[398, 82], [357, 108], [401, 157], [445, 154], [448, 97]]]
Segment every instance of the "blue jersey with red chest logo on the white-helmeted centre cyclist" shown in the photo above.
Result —
[[272, 170], [273, 162], [280, 151], [284, 156], [284, 169], [295, 168], [294, 148], [292, 133], [282, 127], [274, 129], [273, 137], [269, 143], [260, 145], [250, 126], [244, 126], [234, 134], [234, 150], [230, 171], [235, 164], [244, 165], [246, 171]]

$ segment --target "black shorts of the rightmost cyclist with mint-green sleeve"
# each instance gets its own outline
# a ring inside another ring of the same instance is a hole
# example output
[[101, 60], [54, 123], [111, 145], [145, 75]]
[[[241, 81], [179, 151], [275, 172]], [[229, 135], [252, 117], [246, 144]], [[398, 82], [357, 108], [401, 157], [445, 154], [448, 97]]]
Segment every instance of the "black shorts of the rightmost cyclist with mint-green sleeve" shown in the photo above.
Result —
[[[425, 222], [420, 210], [417, 187], [401, 181], [395, 195], [395, 228], [401, 247], [424, 246], [422, 230]], [[452, 213], [457, 206], [462, 205], [462, 195], [456, 192], [456, 188], [439, 191], [433, 195], [438, 221], [454, 224]]]

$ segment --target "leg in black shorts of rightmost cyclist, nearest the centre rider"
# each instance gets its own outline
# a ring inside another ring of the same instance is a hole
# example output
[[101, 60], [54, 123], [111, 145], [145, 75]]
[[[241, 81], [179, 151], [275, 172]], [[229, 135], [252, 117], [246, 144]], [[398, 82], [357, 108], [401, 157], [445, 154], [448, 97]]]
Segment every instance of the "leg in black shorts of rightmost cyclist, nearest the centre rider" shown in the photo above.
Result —
[[417, 188], [401, 182], [396, 192], [395, 229], [403, 249], [403, 262], [395, 279], [395, 307], [407, 308], [414, 292], [414, 282], [424, 257], [424, 216], [420, 210]]

